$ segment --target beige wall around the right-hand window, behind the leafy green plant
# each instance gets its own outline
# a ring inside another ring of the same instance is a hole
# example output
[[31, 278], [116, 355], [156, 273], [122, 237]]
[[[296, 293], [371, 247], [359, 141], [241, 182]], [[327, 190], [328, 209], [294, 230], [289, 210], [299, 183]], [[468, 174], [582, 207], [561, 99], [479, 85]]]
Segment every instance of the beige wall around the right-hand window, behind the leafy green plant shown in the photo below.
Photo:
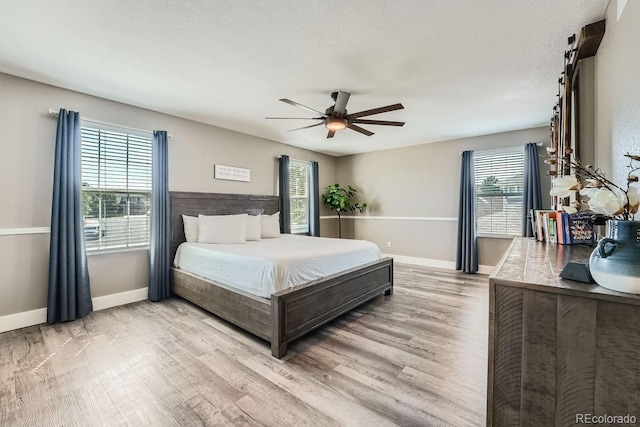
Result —
[[[528, 142], [548, 145], [549, 129], [527, 129], [340, 157], [338, 181], [360, 190], [362, 200], [369, 205], [365, 215], [456, 218], [460, 153], [522, 146]], [[542, 148], [540, 153], [544, 154], [545, 150]], [[544, 166], [541, 169], [544, 174]], [[546, 197], [549, 179], [543, 177], [542, 181], [543, 197]], [[351, 219], [343, 223], [349, 236], [371, 240], [383, 252], [455, 261], [455, 221]], [[387, 246], [389, 241], [391, 248]], [[510, 239], [481, 238], [480, 264], [496, 265], [509, 243]]]

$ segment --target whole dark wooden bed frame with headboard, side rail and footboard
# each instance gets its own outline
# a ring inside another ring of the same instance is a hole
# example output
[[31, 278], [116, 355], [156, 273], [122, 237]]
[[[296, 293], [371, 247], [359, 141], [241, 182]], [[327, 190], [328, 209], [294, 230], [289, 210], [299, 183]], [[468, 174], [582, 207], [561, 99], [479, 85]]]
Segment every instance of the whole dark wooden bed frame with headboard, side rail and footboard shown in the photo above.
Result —
[[[181, 215], [273, 214], [279, 197], [170, 192], [171, 259], [185, 241]], [[260, 298], [179, 268], [171, 269], [174, 294], [271, 343], [278, 359], [287, 345], [371, 298], [393, 294], [393, 259], [361, 267]]]

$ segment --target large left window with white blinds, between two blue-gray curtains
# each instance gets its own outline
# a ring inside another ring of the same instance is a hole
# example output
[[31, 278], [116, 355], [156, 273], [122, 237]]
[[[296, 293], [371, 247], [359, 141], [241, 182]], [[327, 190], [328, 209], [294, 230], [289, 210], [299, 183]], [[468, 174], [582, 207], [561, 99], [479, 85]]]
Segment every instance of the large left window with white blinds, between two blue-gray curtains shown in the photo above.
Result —
[[122, 133], [102, 125], [82, 127], [87, 251], [149, 245], [151, 138], [149, 133]]

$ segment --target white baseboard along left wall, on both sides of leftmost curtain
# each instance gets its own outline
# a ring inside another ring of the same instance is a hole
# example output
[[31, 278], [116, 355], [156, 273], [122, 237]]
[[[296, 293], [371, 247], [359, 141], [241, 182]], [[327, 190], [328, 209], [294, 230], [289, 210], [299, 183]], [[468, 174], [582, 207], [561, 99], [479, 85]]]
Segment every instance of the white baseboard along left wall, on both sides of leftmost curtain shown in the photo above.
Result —
[[[92, 298], [93, 310], [104, 310], [105, 308], [116, 307], [118, 305], [130, 304], [148, 298], [149, 288], [134, 289], [132, 291], [120, 292], [113, 295]], [[0, 333], [13, 331], [14, 329], [26, 328], [27, 326], [39, 325], [47, 321], [47, 309], [24, 311], [22, 313], [9, 314], [0, 317]]]

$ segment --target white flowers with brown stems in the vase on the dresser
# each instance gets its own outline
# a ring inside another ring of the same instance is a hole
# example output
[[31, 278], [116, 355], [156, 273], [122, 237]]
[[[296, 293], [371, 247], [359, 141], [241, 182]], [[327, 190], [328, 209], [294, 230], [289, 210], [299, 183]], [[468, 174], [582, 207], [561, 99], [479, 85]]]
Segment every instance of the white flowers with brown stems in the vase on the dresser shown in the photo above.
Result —
[[[589, 198], [586, 205], [591, 212], [614, 219], [634, 219], [640, 207], [638, 176], [634, 174], [640, 170], [640, 166], [634, 165], [634, 162], [640, 162], [640, 156], [625, 154], [625, 157], [630, 159], [626, 188], [609, 181], [602, 171], [591, 165], [582, 166], [579, 161], [565, 159], [575, 175], [554, 178], [549, 193], [565, 198], [579, 191], [581, 196]], [[585, 182], [584, 186], [582, 182]], [[563, 209], [568, 213], [575, 213], [579, 207], [578, 202], [573, 202], [571, 206], [563, 206]]]

